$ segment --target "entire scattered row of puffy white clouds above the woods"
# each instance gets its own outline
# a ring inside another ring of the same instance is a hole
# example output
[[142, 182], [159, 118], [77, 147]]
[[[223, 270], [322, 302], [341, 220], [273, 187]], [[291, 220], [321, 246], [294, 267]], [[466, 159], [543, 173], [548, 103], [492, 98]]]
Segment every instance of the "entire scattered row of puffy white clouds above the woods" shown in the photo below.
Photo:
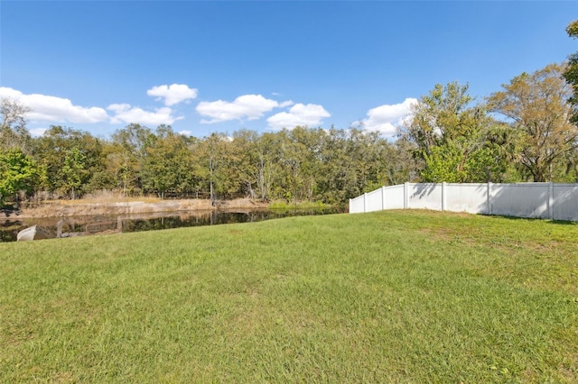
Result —
[[[148, 96], [156, 96], [163, 101], [160, 108], [145, 110], [139, 106], [126, 103], [108, 105], [107, 108], [98, 106], [86, 107], [74, 105], [69, 99], [58, 96], [40, 94], [25, 95], [11, 87], [0, 87], [0, 97], [8, 97], [31, 108], [27, 118], [36, 125], [44, 123], [142, 123], [155, 126], [172, 124], [183, 120], [183, 116], [176, 115], [171, 105], [194, 99], [198, 95], [197, 89], [186, 85], [172, 84], [152, 87], [146, 91]], [[378, 131], [386, 136], [393, 136], [396, 128], [411, 118], [411, 107], [415, 105], [415, 98], [406, 98], [403, 103], [395, 105], [379, 105], [369, 109], [367, 118], [356, 122], [368, 131]], [[238, 96], [232, 102], [217, 100], [203, 101], [196, 106], [196, 111], [203, 118], [200, 123], [220, 123], [232, 120], [256, 120], [275, 108], [287, 108], [284, 112], [270, 115], [266, 122], [270, 129], [293, 129], [295, 126], [319, 126], [322, 119], [331, 114], [322, 105], [294, 104], [293, 101], [278, 102], [261, 95]], [[42, 126], [42, 125], [41, 125]], [[42, 135], [44, 128], [34, 127], [34, 135]], [[32, 130], [31, 130], [32, 132]], [[190, 131], [182, 131], [184, 135], [191, 135]]]

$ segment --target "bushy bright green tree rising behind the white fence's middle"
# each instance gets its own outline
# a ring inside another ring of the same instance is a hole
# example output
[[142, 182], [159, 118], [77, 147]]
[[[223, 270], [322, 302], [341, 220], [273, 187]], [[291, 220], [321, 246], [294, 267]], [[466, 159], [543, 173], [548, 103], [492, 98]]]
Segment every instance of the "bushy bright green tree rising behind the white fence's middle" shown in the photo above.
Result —
[[496, 122], [483, 105], [472, 105], [468, 85], [436, 84], [413, 107], [401, 136], [415, 144], [414, 155], [424, 181], [480, 182], [499, 178], [499, 152], [490, 145]]

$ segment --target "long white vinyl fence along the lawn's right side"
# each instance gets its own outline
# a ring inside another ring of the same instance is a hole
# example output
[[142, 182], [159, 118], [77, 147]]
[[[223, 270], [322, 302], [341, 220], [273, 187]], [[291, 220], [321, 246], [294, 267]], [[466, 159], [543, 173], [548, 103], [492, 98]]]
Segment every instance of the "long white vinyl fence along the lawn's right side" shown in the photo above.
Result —
[[578, 221], [578, 184], [406, 183], [350, 199], [350, 214], [406, 208]]

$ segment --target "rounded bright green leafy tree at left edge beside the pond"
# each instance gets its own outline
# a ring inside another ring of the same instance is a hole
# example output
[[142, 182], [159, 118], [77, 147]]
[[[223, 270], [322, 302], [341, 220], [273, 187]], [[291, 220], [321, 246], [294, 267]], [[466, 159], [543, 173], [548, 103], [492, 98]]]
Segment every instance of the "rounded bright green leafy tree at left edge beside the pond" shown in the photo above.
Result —
[[42, 170], [19, 149], [0, 151], [0, 204], [5, 197], [15, 196], [23, 190], [33, 191], [40, 181]]

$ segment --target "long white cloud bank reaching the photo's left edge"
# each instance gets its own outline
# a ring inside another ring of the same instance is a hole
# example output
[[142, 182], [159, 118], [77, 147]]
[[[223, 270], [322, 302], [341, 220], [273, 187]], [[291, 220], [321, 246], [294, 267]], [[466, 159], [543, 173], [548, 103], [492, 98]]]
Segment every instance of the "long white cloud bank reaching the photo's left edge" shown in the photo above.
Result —
[[27, 117], [33, 121], [100, 123], [108, 120], [107, 111], [96, 106], [73, 105], [67, 98], [39, 94], [24, 95], [22, 92], [0, 87], [0, 97], [10, 97], [32, 109]]

